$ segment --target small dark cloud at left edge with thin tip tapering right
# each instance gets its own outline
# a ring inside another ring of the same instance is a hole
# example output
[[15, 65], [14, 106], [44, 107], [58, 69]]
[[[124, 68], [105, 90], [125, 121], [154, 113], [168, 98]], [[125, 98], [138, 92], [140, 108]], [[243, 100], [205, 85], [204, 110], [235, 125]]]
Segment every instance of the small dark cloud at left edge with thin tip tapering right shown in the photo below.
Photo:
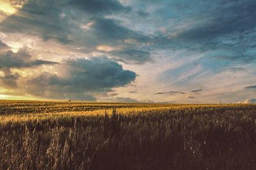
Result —
[[33, 67], [43, 64], [58, 64], [58, 62], [48, 60], [32, 60], [31, 55], [29, 55], [29, 53], [24, 49], [19, 50], [17, 53], [8, 51], [0, 54], [0, 69]]

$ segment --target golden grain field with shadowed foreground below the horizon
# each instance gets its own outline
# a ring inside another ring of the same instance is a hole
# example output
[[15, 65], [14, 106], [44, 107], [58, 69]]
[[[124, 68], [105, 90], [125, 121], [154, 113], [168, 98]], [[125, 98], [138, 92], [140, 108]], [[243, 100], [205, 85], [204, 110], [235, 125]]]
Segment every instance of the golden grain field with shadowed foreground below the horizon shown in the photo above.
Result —
[[0, 169], [256, 169], [256, 104], [0, 101]]

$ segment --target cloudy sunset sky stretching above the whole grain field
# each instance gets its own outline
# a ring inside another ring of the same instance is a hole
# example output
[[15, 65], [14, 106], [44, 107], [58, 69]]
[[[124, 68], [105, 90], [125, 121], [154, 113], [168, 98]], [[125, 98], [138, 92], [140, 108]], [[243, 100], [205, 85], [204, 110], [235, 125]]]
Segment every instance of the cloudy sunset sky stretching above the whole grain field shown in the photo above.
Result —
[[256, 1], [0, 0], [0, 99], [256, 103]]

